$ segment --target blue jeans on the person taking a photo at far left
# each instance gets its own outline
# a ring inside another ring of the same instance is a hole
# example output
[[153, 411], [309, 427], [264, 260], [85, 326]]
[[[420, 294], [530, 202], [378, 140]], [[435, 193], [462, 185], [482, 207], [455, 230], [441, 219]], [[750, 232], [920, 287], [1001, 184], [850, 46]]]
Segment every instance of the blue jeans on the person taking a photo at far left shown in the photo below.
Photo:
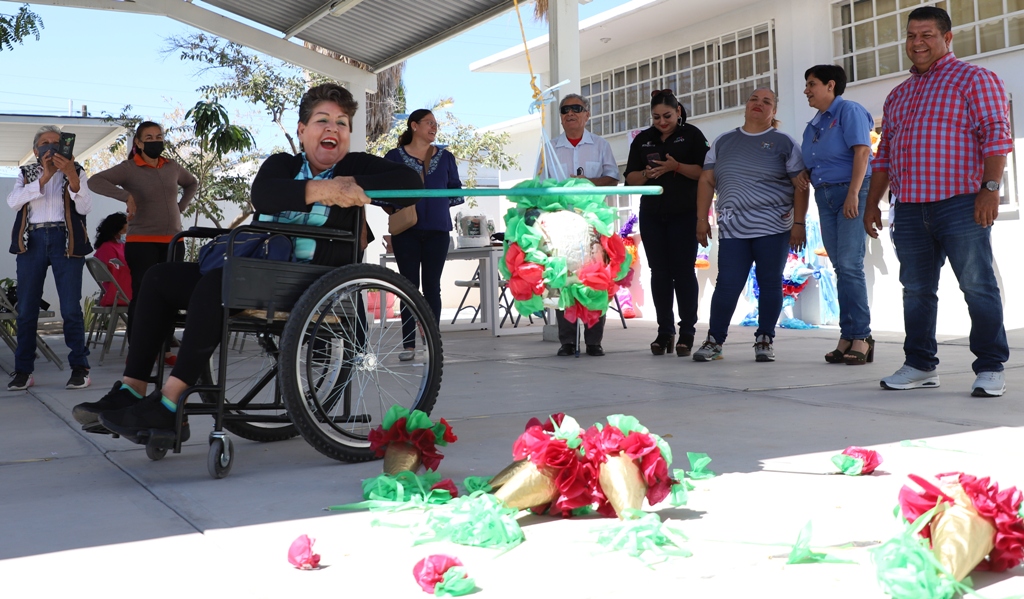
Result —
[[68, 230], [63, 227], [37, 228], [29, 231], [29, 247], [17, 261], [17, 351], [14, 370], [32, 373], [36, 363], [36, 328], [39, 301], [43, 297], [46, 267], [53, 269], [53, 281], [60, 299], [65, 343], [71, 353], [71, 368], [89, 368], [85, 348], [85, 317], [82, 315], [82, 269], [85, 258], [65, 256]]

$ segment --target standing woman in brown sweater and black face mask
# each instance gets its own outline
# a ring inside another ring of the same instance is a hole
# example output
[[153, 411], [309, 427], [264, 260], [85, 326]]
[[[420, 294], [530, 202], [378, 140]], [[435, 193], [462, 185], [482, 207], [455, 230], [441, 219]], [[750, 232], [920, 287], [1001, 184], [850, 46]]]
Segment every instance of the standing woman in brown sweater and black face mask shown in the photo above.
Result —
[[[181, 232], [181, 213], [199, 188], [199, 181], [191, 173], [163, 154], [163, 127], [144, 121], [135, 129], [128, 160], [89, 179], [93, 191], [128, 206], [125, 260], [131, 271], [133, 298], [138, 297], [146, 271], [167, 261], [167, 246], [171, 238]], [[133, 300], [128, 304], [129, 339], [134, 314]]]

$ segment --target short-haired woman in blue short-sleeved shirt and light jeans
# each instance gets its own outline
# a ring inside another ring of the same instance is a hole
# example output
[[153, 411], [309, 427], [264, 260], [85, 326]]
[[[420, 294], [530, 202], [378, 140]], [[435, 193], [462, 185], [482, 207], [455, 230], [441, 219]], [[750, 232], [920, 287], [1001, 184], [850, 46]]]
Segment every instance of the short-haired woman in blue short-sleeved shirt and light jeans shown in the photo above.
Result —
[[871, 175], [871, 129], [864, 106], [843, 99], [846, 72], [818, 65], [804, 73], [804, 95], [817, 109], [804, 129], [804, 180], [814, 185], [821, 238], [836, 268], [840, 340], [828, 363], [863, 365], [874, 358], [871, 314], [864, 282], [865, 233], [861, 219]]

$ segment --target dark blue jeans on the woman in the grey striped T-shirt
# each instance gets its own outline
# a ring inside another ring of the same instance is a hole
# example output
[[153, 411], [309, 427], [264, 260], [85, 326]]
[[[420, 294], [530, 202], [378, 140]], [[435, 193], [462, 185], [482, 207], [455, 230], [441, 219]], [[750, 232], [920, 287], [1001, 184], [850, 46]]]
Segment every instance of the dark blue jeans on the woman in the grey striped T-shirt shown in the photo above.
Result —
[[748, 240], [718, 242], [718, 281], [711, 298], [709, 333], [719, 343], [729, 335], [729, 320], [746, 285], [751, 264], [758, 282], [758, 330], [755, 337], [775, 338], [775, 323], [782, 311], [782, 270], [790, 256], [790, 231]]

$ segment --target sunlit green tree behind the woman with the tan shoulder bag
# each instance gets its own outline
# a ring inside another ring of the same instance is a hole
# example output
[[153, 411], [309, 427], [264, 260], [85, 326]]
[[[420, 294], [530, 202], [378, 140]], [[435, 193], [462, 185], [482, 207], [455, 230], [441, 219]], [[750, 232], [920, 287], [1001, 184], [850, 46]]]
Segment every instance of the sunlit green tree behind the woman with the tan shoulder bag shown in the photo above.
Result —
[[[445, 109], [452, 105], [452, 98], [444, 98], [434, 104], [430, 112], [437, 117], [437, 143], [446, 146], [457, 159], [466, 163], [467, 187], [476, 186], [476, 173], [480, 167], [509, 170], [518, 168], [517, 156], [505, 152], [509, 142], [508, 133], [494, 131], [480, 132], [472, 125], [467, 125]], [[406, 130], [406, 123], [395, 123], [390, 131], [367, 143], [367, 152], [384, 156], [398, 145], [398, 137]], [[470, 202], [475, 207], [475, 202]]]

